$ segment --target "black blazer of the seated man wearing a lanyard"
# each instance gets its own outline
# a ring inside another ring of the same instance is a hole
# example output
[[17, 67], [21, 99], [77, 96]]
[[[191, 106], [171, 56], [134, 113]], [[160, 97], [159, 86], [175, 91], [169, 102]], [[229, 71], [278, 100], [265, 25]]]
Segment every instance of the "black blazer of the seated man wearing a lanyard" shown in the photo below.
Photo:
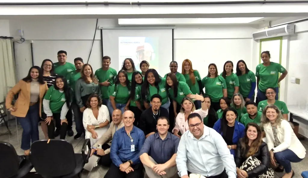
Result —
[[[169, 119], [168, 110], [160, 107], [159, 117], [166, 117]], [[156, 132], [156, 119], [153, 117], [152, 107], [144, 110], [140, 116], [139, 128], [144, 132], [144, 135], [147, 135], [151, 132]]]

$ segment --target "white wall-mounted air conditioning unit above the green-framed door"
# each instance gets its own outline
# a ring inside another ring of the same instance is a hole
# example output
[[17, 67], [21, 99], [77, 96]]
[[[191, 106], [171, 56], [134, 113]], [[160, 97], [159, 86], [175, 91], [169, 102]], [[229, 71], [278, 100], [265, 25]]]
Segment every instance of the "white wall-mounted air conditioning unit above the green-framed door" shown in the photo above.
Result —
[[254, 40], [271, 38], [271, 37], [281, 37], [285, 35], [294, 34], [294, 24], [280, 25], [277, 27], [272, 27], [269, 29], [263, 29], [252, 33], [252, 38]]

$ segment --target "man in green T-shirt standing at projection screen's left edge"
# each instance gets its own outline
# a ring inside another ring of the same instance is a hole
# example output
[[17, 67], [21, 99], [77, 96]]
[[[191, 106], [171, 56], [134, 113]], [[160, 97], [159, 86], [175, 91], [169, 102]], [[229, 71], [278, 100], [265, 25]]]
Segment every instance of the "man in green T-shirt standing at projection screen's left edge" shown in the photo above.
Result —
[[111, 64], [111, 58], [109, 56], [103, 56], [102, 63], [103, 67], [97, 69], [94, 75], [99, 81], [103, 105], [107, 106], [109, 100], [109, 91], [111, 85], [115, 83], [117, 72], [114, 68], [109, 67]]

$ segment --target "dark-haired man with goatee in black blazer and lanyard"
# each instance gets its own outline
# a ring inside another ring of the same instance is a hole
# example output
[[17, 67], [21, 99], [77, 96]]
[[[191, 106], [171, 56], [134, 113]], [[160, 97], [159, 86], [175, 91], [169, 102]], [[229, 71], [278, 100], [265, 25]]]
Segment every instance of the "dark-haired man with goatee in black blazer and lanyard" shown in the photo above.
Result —
[[168, 110], [160, 107], [162, 98], [160, 95], [155, 94], [151, 97], [151, 105], [152, 107], [144, 110], [140, 116], [140, 124], [139, 128], [144, 132], [145, 137], [155, 134], [156, 123], [158, 118], [166, 117], [169, 119]]

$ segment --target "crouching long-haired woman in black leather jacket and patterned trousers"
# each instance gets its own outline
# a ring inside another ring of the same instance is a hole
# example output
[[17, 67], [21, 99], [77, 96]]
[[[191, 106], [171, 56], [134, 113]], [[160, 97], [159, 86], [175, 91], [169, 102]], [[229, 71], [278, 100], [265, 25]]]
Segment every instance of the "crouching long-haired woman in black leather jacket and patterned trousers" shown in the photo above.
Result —
[[238, 177], [271, 177], [269, 149], [262, 141], [260, 127], [250, 122], [245, 128], [245, 136], [237, 143], [235, 164]]

